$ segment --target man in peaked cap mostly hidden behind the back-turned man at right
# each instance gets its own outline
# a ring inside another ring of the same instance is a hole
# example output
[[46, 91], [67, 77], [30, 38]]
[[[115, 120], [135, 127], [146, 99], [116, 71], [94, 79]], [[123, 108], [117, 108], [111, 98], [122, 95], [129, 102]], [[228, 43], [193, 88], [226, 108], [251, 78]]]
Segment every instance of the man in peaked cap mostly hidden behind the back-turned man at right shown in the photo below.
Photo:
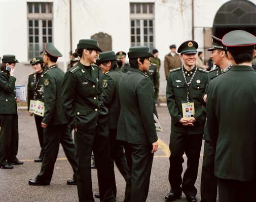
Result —
[[[228, 72], [232, 65], [228, 59], [227, 47], [222, 44], [222, 40], [212, 36], [212, 45], [208, 49], [211, 51], [211, 58], [216, 68], [211, 70], [207, 76], [207, 86], [209, 82], [220, 76], [221, 74]], [[203, 95], [203, 101], [206, 103], [207, 94]], [[217, 178], [214, 176], [214, 150], [210, 145], [209, 133], [207, 123], [204, 127], [204, 157], [201, 176], [201, 202], [216, 202], [217, 197]]]

